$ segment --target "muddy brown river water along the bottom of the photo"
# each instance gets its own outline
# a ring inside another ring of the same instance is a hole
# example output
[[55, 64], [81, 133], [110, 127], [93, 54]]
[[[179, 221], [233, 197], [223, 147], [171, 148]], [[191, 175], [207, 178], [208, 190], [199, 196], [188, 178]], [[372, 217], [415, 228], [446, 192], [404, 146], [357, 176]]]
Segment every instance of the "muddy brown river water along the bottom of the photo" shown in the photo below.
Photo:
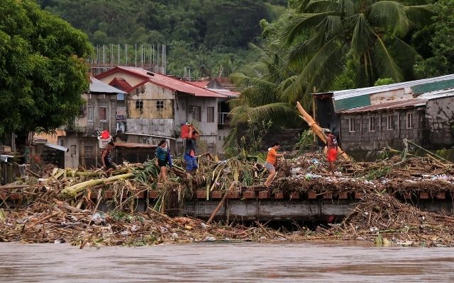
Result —
[[305, 242], [80, 250], [0, 243], [0, 282], [454, 282], [454, 248]]

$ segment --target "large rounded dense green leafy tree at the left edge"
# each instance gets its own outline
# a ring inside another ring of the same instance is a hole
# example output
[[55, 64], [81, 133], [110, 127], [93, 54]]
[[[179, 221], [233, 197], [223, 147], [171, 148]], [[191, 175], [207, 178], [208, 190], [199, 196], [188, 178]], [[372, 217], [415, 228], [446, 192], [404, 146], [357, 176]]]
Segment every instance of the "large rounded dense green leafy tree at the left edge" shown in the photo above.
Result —
[[0, 2], [0, 136], [65, 125], [89, 86], [87, 35], [33, 0]]

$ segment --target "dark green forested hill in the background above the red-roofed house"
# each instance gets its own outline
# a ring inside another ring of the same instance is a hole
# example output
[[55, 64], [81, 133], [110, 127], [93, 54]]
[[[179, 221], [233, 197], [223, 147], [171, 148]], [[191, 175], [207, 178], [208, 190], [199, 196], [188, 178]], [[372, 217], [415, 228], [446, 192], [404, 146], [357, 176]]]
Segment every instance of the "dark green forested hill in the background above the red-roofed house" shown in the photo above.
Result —
[[253, 60], [262, 18], [272, 21], [287, 0], [38, 0], [89, 35], [93, 45], [166, 44], [167, 69], [182, 75], [231, 74]]

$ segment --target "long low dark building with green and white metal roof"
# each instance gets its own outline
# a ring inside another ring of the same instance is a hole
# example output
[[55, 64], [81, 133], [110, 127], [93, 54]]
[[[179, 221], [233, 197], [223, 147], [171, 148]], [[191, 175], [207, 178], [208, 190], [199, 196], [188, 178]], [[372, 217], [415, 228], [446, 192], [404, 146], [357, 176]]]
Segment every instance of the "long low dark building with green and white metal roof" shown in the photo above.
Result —
[[346, 151], [402, 148], [411, 139], [428, 149], [454, 144], [454, 74], [330, 93], [314, 93], [316, 119]]

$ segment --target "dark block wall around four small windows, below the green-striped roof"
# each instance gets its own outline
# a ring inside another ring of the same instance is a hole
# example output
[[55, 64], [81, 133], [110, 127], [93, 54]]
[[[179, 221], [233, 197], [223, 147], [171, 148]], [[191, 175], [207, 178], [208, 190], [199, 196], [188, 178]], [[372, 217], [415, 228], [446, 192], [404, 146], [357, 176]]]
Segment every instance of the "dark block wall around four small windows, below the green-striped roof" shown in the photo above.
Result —
[[[413, 125], [406, 127], [406, 114], [413, 113]], [[388, 116], [394, 117], [393, 129], [388, 129]], [[423, 137], [423, 110], [395, 110], [362, 114], [343, 114], [341, 119], [340, 144], [345, 151], [375, 151], [385, 146], [402, 149], [402, 139], [420, 144]], [[350, 117], [355, 118], [355, 132], [350, 132]], [[370, 117], [375, 117], [375, 130], [370, 131]]]

